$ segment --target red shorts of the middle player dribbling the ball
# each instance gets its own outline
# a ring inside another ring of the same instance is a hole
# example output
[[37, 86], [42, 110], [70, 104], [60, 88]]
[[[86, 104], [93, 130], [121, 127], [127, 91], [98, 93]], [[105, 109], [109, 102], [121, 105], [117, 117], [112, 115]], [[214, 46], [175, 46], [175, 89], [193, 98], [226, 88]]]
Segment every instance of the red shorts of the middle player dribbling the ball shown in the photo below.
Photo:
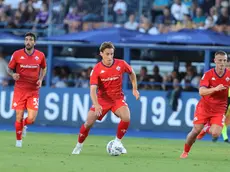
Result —
[[[102, 106], [102, 114], [98, 117], [98, 120], [102, 120], [102, 118], [107, 114], [109, 110], [111, 110], [114, 114], [117, 109], [119, 109], [122, 106], [128, 106], [128, 104], [125, 102], [124, 99], [118, 99], [112, 101], [106, 101], [103, 99], [98, 99], [98, 103]], [[95, 111], [94, 106], [90, 108], [91, 111]]]

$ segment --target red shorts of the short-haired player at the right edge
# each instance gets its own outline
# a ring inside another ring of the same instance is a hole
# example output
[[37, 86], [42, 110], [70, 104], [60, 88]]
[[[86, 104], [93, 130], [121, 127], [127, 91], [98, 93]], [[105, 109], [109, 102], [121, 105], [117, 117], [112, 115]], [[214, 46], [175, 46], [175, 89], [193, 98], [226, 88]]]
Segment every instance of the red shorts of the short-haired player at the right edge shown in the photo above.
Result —
[[223, 127], [225, 122], [225, 114], [195, 114], [193, 124], [206, 124], [206, 123], [216, 124]]

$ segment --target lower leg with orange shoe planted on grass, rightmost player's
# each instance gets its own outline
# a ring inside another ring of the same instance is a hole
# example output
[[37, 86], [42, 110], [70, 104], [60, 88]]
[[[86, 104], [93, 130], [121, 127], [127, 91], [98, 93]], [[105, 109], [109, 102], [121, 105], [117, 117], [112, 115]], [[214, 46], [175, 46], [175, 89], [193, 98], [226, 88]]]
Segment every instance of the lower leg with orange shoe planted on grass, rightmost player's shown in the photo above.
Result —
[[190, 152], [190, 149], [193, 145], [193, 143], [195, 143], [196, 138], [198, 136], [198, 134], [201, 132], [201, 130], [203, 129], [204, 124], [194, 124], [191, 132], [187, 135], [185, 144], [184, 144], [184, 152], [181, 154], [181, 158], [187, 158], [188, 153]]

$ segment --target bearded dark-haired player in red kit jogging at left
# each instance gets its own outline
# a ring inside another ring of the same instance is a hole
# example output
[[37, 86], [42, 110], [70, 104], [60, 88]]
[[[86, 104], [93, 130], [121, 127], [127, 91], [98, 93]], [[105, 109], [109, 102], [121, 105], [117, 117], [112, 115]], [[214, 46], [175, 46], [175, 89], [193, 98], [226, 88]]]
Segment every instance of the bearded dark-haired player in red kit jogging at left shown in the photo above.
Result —
[[[38, 113], [39, 88], [46, 74], [45, 55], [34, 48], [36, 35], [25, 35], [25, 48], [13, 53], [8, 73], [15, 80], [12, 109], [16, 110], [16, 147], [22, 147], [23, 127], [33, 124]], [[23, 120], [24, 111], [28, 117]]]

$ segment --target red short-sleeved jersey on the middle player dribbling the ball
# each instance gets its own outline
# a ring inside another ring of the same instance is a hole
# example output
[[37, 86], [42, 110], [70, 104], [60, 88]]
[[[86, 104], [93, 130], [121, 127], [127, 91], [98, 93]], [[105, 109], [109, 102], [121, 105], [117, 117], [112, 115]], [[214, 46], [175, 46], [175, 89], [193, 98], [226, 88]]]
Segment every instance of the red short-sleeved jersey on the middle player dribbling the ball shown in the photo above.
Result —
[[112, 66], [97, 63], [90, 75], [90, 85], [97, 85], [98, 98], [116, 100], [124, 98], [122, 77], [124, 73], [132, 73], [132, 68], [124, 60], [114, 59]]

